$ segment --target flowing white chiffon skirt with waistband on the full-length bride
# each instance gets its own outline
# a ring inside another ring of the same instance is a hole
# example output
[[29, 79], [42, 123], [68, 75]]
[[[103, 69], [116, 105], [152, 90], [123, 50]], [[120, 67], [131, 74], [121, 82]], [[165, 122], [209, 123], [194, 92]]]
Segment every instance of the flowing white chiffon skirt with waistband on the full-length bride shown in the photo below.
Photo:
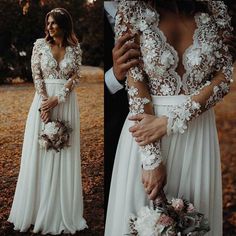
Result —
[[[66, 80], [46, 79], [49, 96], [55, 95]], [[83, 218], [83, 197], [80, 161], [80, 123], [76, 93], [56, 106], [51, 119], [68, 121], [73, 131], [70, 147], [60, 152], [45, 151], [38, 138], [43, 127], [39, 107], [41, 97], [36, 93], [28, 114], [20, 173], [8, 221], [15, 230], [42, 234], [75, 233], [87, 227]]]

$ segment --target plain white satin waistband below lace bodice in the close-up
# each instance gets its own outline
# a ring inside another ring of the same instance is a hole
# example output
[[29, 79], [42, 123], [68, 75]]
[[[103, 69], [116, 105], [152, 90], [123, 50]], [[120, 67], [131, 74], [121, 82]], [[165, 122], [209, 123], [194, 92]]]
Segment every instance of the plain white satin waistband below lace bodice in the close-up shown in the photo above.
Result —
[[161, 106], [174, 106], [182, 104], [186, 101], [186, 95], [174, 95], [174, 96], [154, 96], [152, 95], [152, 103], [154, 105], [161, 105]]

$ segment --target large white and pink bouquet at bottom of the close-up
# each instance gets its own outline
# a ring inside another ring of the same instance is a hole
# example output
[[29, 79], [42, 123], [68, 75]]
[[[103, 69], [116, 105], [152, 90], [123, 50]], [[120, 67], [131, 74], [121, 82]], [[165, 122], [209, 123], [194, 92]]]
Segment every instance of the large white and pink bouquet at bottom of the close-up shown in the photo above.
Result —
[[192, 203], [174, 198], [142, 207], [129, 223], [132, 236], [201, 236], [210, 230], [208, 220]]

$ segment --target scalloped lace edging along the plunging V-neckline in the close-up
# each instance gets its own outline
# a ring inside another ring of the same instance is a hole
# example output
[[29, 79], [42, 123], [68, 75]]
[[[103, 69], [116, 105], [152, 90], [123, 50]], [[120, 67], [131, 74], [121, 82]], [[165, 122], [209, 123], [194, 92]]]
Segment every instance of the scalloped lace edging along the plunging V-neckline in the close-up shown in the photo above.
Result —
[[183, 51], [181, 63], [182, 63], [182, 66], [184, 68], [184, 72], [183, 72], [182, 75], [180, 75], [176, 70], [179, 66], [180, 55], [179, 55], [178, 51], [175, 49], [175, 47], [172, 46], [171, 43], [168, 42], [167, 37], [165, 36], [164, 32], [159, 27], [159, 25], [160, 25], [160, 13], [154, 7], [151, 7], [151, 8], [157, 16], [157, 29], [158, 29], [159, 35], [162, 39], [162, 44], [165, 45], [170, 50], [171, 54], [174, 57], [174, 68], [173, 68], [173, 70], [176, 73], [176, 75], [179, 77], [180, 81], [183, 82], [183, 80], [186, 78], [186, 76], [188, 74], [188, 68], [187, 68], [187, 65], [186, 65], [186, 55], [190, 51], [190, 49], [192, 47], [194, 47], [194, 45], [196, 43], [195, 41], [196, 41], [196, 38], [197, 38], [196, 35], [198, 34], [198, 32], [200, 30], [199, 29], [199, 22], [198, 22], [198, 17], [199, 17], [200, 13], [195, 13], [194, 14], [194, 22], [195, 22], [196, 28], [194, 29], [194, 32], [193, 32], [193, 35], [192, 35], [192, 43], [188, 47], [186, 47], [185, 50]]

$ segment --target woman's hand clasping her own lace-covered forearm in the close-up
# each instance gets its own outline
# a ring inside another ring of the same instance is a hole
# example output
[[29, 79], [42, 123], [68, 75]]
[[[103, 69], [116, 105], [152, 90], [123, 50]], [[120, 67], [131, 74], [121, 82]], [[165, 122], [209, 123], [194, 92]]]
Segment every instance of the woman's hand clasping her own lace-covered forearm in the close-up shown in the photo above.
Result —
[[129, 128], [139, 146], [144, 146], [162, 138], [167, 132], [168, 118], [156, 117], [148, 114], [138, 114], [129, 117], [129, 120], [138, 121]]

